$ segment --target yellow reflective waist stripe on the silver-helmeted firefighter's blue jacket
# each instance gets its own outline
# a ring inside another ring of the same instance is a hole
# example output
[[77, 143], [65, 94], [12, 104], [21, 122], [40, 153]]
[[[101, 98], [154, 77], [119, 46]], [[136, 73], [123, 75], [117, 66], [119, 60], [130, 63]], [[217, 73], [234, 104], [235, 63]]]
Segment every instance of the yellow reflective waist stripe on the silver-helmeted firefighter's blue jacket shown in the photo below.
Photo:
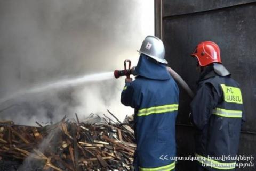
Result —
[[173, 112], [178, 110], [178, 104], [162, 105], [162, 106], [153, 106], [150, 108], [140, 109], [137, 116], [147, 116], [150, 114], [159, 114], [165, 112]]

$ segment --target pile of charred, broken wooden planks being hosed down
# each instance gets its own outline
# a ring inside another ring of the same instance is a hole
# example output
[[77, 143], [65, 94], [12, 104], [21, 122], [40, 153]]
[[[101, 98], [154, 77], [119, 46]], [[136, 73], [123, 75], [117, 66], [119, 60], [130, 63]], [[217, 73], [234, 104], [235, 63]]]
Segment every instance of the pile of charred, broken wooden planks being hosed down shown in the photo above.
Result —
[[0, 122], [0, 159], [15, 158], [23, 165], [39, 163], [40, 170], [131, 168], [136, 146], [134, 131], [127, 123], [91, 114], [85, 121], [76, 115], [74, 121], [64, 117], [55, 124], [37, 124]]

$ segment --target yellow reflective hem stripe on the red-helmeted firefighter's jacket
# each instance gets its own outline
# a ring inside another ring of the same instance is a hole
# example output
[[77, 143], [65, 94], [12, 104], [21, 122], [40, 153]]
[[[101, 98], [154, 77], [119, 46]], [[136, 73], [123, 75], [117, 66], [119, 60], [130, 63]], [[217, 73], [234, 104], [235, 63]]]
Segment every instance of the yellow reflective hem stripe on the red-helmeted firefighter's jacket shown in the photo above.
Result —
[[202, 164], [205, 164], [206, 166], [210, 166], [213, 167], [215, 169], [219, 169], [219, 170], [229, 170], [229, 169], [234, 169], [236, 167], [236, 162], [232, 162], [232, 163], [221, 163], [219, 161], [215, 161], [215, 160], [211, 160], [207, 157], [198, 155], [196, 153], [196, 160], [199, 161]]

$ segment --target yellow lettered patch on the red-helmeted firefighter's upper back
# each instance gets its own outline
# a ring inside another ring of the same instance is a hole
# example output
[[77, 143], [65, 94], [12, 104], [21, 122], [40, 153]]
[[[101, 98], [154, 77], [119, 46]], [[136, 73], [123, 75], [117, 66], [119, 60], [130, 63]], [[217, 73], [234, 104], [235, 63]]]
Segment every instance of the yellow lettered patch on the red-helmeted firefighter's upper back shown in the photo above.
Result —
[[236, 104], [243, 104], [243, 98], [241, 90], [237, 87], [226, 86], [225, 84], [220, 84], [224, 92], [224, 100], [226, 102], [233, 102]]

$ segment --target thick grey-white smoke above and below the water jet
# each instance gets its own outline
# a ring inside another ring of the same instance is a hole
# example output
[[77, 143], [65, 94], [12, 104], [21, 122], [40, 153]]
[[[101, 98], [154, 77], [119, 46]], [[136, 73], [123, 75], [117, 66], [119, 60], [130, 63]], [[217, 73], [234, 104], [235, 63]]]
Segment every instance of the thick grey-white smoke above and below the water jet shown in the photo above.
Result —
[[[0, 99], [20, 90], [81, 75], [123, 69], [138, 60], [143, 38], [154, 34], [154, 1], [0, 1]], [[1, 119], [34, 125], [63, 115], [82, 119], [109, 109], [119, 118], [124, 79], [88, 82], [21, 95], [0, 105]]]

